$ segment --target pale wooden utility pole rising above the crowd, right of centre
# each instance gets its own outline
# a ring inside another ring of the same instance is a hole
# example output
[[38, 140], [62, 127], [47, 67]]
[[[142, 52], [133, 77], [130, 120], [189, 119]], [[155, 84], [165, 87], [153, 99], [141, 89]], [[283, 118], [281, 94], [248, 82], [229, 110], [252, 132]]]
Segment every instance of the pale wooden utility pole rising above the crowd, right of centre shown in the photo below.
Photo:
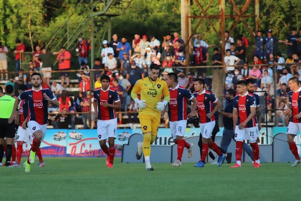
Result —
[[[191, 35], [190, 0], [181, 0], [181, 37], [185, 43], [189, 42]], [[186, 66], [189, 65], [189, 45], [186, 45]], [[188, 70], [188, 69], [187, 69]]]

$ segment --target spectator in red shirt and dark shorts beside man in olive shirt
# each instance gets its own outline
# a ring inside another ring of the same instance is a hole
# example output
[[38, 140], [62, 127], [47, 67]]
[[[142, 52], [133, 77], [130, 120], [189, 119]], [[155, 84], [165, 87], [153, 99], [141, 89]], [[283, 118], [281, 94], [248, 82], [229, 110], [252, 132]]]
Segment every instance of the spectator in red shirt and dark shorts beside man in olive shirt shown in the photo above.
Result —
[[60, 49], [60, 53], [57, 56], [57, 60], [59, 62], [59, 70], [60, 76], [61, 76], [61, 84], [63, 85], [66, 79], [67, 87], [70, 87], [70, 79], [69, 79], [69, 73], [65, 72], [65, 70], [70, 70], [70, 60], [71, 60], [71, 54], [66, 50], [65, 47], [62, 47]]

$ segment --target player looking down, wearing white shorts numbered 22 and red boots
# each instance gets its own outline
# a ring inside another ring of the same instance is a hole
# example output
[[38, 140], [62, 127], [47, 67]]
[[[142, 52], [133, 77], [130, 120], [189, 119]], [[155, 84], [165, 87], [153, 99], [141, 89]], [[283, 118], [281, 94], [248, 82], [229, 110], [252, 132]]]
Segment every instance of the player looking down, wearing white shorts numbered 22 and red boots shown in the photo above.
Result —
[[256, 98], [247, 91], [245, 80], [237, 82], [237, 93], [233, 100], [233, 125], [236, 140], [236, 164], [230, 167], [241, 167], [242, 146], [244, 140], [249, 140], [253, 150], [253, 167], [260, 167], [259, 147], [257, 144]]

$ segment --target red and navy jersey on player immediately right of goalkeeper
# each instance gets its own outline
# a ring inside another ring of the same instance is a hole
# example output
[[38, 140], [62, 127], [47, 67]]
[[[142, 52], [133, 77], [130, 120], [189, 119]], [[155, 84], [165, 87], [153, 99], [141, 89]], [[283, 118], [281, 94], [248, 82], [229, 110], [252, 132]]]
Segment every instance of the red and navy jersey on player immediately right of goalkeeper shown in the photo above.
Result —
[[168, 116], [171, 122], [177, 122], [181, 120], [187, 120], [187, 98], [192, 99], [194, 96], [192, 93], [177, 85], [176, 88], [170, 90], [170, 102], [168, 104]]

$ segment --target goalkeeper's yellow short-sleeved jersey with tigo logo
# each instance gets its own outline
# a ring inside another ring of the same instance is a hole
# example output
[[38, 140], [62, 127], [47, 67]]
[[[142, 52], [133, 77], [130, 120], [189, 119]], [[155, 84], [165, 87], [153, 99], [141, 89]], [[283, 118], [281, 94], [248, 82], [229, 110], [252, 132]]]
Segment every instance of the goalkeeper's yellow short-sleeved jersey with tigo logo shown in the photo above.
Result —
[[139, 114], [161, 115], [157, 110], [157, 104], [161, 102], [162, 95], [170, 94], [167, 83], [161, 78], [156, 81], [150, 81], [149, 77], [145, 77], [136, 81], [132, 91], [138, 93], [140, 91], [140, 100], [145, 100], [146, 107], [139, 109]]

